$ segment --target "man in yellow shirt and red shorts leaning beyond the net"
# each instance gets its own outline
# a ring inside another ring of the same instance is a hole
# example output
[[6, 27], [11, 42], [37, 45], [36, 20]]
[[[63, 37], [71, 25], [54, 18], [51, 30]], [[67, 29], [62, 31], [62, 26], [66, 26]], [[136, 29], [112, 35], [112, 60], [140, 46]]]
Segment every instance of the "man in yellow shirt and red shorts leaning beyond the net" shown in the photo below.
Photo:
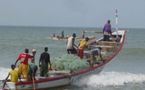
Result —
[[79, 42], [77, 54], [81, 59], [83, 59], [83, 56], [84, 56], [84, 49], [88, 47], [88, 43], [87, 43], [88, 41], [89, 41], [89, 38], [86, 37], [85, 39], [82, 39]]

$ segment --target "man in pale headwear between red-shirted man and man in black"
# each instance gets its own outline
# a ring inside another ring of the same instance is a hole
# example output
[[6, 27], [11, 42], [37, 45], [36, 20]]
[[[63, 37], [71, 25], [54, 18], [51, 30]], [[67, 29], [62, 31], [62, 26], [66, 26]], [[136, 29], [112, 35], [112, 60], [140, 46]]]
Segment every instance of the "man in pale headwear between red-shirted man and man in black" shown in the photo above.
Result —
[[35, 64], [35, 55], [36, 55], [36, 49], [32, 49], [32, 55], [33, 59], [29, 63], [29, 79], [30, 80], [35, 80], [36, 72], [38, 70], [37, 65]]

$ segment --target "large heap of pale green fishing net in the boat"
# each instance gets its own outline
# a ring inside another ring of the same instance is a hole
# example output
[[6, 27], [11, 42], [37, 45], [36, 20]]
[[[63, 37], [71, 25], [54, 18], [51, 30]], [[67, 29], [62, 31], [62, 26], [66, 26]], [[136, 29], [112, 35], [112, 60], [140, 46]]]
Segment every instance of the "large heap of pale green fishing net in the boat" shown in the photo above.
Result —
[[52, 67], [56, 70], [77, 71], [89, 67], [89, 64], [86, 60], [82, 60], [75, 55], [66, 54], [62, 57], [54, 58], [52, 60]]

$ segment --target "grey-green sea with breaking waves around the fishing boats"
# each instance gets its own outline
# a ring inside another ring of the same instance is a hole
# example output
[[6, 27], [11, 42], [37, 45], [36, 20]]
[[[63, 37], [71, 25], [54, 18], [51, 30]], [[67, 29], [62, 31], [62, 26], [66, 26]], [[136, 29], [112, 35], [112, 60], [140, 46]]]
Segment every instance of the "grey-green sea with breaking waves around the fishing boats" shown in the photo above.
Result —
[[[71, 85], [49, 90], [145, 90], [145, 29], [122, 29], [127, 30], [124, 47], [101, 73], [91, 74]], [[50, 37], [53, 34], [61, 35], [64, 31], [65, 36], [76, 33], [80, 37], [83, 30], [102, 31], [101, 28], [90, 27], [0, 26], [0, 80], [6, 78], [11, 64], [15, 63], [18, 54], [25, 48], [30, 52], [33, 48], [36, 49], [38, 65], [44, 47], [48, 47], [51, 60], [66, 54], [66, 40], [52, 40]], [[96, 38], [103, 36], [91, 32], [88, 35], [95, 35]]]

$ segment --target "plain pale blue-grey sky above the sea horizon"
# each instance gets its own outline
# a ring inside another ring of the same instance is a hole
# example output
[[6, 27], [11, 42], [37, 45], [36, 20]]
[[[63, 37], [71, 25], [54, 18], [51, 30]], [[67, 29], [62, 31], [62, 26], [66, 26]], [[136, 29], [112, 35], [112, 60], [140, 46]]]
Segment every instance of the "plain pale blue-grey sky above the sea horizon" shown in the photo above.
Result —
[[145, 0], [0, 0], [0, 25], [145, 28]]

